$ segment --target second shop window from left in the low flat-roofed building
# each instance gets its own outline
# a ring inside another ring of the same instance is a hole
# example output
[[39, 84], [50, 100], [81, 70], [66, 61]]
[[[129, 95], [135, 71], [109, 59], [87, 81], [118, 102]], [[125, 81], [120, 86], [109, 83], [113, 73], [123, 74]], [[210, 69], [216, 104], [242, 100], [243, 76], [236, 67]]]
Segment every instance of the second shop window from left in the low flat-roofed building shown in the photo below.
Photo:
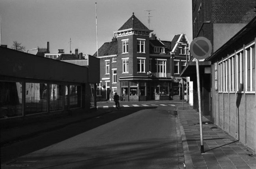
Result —
[[26, 83], [25, 115], [47, 111], [47, 84]]

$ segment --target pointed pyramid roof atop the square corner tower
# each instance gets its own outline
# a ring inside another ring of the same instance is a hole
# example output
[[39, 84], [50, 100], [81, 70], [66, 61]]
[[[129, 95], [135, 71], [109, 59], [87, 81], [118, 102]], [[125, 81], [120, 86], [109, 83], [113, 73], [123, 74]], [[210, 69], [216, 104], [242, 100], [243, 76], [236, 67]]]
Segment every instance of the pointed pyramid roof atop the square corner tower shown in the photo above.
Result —
[[148, 30], [148, 27], [146, 27], [142, 22], [140, 22], [140, 20], [138, 18], [136, 18], [136, 16], [134, 15], [134, 12], [132, 12], [132, 16], [131, 18], [129, 18], [122, 27], [120, 27], [118, 29], [119, 30], [124, 30], [124, 29], [144, 29], [144, 30]]

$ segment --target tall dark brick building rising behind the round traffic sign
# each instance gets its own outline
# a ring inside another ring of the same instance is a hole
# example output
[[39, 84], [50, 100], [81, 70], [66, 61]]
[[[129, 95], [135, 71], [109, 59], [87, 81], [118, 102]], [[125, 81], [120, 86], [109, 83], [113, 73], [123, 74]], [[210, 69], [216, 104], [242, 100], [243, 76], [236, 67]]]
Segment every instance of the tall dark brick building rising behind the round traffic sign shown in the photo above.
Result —
[[192, 0], [193, 39], [208, 38], [213, 52], [255, 16], [255, 0]]

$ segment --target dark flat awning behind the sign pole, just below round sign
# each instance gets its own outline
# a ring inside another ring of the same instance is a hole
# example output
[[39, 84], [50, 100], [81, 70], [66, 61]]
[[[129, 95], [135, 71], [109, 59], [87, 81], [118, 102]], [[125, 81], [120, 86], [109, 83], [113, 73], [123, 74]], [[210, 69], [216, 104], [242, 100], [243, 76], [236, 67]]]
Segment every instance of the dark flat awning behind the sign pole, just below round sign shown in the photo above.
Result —
[[[211, 61], [202, 61], [199, 63], [199, 73], [204, 72], [205, 67], [211, 67]], [[196, 75], [196, 62], [188, 62], [185, 68], [180, 73], [180, 77], [190, 77]]]

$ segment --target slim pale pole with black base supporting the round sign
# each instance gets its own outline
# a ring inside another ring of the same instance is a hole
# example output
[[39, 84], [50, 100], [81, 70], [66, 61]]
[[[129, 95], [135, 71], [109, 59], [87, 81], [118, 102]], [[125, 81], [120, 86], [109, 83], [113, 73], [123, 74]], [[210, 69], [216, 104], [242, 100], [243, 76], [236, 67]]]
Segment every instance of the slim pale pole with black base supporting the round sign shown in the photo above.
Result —
[[199, 110], [199, 124], [200, 124], [201, 153], [204, 153], [202, 109], [201, 109], [201, 91], [200, 91], [200, 77], [199, 77], [198, 59], [196, 59], [196, 81], [197, 81], [197, 94], [198, 94], [198, 110]]

